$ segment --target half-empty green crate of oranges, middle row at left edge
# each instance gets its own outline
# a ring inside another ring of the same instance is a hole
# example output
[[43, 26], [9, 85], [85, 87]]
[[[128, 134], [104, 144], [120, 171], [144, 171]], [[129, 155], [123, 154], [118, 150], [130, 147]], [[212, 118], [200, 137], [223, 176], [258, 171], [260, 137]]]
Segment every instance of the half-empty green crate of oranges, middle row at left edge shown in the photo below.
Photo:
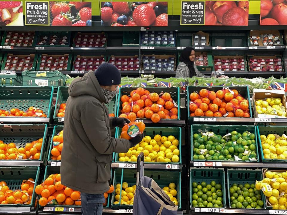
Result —
[[[13, 142], [17, 148], [20, 148], [25, 147], [26, 143], [43, 138], [40, 158], [38, 159], [42, 160], [47, 130], [47, 125], [0, 125], [0, 140], [5, 144]], [[23, 160], [15, 160], [14, 162], [18, 161]]]

